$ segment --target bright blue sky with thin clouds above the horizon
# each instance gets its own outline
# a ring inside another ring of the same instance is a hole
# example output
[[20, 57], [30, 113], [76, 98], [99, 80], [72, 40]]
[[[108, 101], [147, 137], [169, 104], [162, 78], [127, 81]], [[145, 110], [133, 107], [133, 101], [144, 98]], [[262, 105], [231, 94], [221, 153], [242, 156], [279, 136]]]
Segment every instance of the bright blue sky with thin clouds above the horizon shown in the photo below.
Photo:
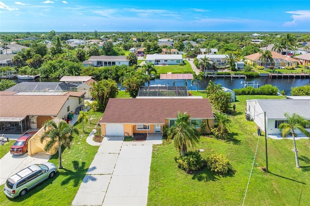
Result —
[[310, 0], [0, 0], [0, 32], [310, 31]]

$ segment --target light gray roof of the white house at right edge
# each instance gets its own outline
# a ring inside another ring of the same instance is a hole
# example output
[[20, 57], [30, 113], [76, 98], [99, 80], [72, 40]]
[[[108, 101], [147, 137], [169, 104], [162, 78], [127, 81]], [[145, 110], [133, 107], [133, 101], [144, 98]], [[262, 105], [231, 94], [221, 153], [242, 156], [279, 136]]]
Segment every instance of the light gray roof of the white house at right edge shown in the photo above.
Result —
[[257, 100], [268, 119], [286, 119], [284, 113], [296, 113], [310, 119], [310, 100]]

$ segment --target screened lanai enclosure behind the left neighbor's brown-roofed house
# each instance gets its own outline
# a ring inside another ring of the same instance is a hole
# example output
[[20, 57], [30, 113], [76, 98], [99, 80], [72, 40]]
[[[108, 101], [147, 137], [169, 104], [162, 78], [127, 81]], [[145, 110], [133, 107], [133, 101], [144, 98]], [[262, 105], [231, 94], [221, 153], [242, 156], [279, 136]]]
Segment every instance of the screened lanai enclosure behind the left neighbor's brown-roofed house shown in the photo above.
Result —
[[21, 82], [6, 91], [16, 92], [64, 92], [78, 91], [76, 85], [64, 82]]

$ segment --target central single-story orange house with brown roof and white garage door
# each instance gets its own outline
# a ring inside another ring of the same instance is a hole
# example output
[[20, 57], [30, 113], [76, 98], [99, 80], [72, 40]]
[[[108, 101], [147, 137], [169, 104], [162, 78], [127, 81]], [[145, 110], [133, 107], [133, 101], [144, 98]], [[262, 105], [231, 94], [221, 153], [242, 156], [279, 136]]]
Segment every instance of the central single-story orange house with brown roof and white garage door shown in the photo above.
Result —
[[190, 121], [198, 129], [202, 121], [207, 122], [206, 132], [213, 127], [214, 116], [208, 99], [109, 99], [100, 120], [101, 134], [162, 134], [163, 126], [175, 124], [178, 112], [190, 115]]

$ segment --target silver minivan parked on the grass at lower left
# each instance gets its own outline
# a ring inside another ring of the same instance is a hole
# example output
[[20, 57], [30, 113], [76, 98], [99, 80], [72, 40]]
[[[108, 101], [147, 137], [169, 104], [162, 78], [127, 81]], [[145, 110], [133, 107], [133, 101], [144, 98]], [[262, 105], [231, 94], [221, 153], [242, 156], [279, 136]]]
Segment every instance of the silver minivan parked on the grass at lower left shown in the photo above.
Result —
[[15, 198], [18, 195], [24, 196], [27, 191], [48, 177], [54, 177], [56, 172], [57, 167], [51, 162], [32, 164], [6, 180], [4, 193], [9, 198]]

